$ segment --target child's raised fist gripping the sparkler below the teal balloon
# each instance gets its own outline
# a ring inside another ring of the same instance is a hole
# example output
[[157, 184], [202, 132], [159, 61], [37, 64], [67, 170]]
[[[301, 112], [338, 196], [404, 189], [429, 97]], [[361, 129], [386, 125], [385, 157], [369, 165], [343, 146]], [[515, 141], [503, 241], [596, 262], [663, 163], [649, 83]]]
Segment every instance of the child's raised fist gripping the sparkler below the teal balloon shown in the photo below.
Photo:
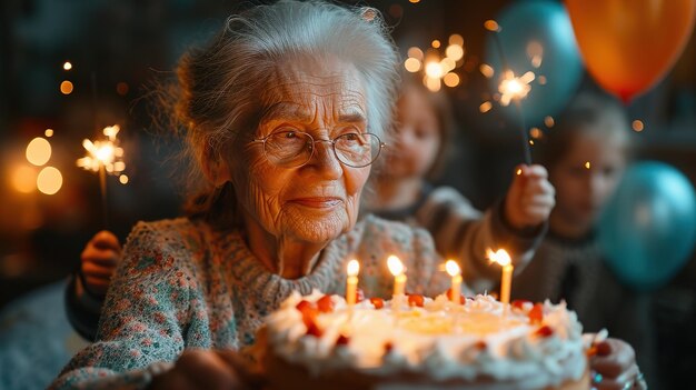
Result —
[[554, 186], [541, 166], [518, 166], [515, 173], [505, 198], [505, 217], [515, 229], [537, 227], [556, 204]]

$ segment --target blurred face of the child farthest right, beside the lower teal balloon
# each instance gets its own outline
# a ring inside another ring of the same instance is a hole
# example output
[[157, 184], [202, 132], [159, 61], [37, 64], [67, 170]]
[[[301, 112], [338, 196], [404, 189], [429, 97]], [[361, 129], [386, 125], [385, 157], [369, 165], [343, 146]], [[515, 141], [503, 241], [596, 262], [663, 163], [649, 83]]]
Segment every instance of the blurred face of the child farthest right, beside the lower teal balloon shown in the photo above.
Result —
[[625, 160], [620, 140], [600, 133], [576, 134], [549, 173], [556, 188], [556, 217], [588, 231], [614, 192]]

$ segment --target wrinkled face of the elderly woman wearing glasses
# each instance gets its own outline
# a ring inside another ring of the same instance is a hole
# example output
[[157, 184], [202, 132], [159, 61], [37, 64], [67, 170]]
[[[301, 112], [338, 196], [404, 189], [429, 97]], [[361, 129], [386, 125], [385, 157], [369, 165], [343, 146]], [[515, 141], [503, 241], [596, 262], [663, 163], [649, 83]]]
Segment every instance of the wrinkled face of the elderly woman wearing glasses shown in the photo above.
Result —
[[331, 143], [316, 142], [306, 164], [282, 168], [252, 139], [288, 130], [315, 140], [367, 132], [362, 81], [354, 66], [339, 60], [291, 59], [266, 84], [260, 124], [238, 138], [229, 163], [246, 228], [306, 242], [332, 240], [354, 227], [370, 167], [345, 166]]

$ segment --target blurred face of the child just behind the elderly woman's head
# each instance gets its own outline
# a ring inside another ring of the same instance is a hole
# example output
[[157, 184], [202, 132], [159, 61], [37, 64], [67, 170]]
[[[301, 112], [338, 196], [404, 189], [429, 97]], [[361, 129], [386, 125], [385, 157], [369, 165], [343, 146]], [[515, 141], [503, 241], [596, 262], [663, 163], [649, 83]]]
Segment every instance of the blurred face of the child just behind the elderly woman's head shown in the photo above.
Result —
[[396, 178], [422, 178], [440, 149], [439, 123], [422, 91], [407, 88], [397, 102], [397, 128], [386, 173]]

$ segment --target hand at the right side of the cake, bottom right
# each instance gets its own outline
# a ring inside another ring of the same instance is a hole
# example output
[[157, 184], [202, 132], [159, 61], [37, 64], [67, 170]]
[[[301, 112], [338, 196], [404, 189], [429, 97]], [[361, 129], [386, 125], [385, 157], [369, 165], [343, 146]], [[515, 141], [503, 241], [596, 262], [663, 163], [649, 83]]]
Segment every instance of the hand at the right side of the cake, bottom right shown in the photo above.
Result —
[[636, 353], [628, 343], [609, 338], [597, 343], [595, 348], [596, 353], [589, 360], [593, 389], [647, 389], [636, 364]]

